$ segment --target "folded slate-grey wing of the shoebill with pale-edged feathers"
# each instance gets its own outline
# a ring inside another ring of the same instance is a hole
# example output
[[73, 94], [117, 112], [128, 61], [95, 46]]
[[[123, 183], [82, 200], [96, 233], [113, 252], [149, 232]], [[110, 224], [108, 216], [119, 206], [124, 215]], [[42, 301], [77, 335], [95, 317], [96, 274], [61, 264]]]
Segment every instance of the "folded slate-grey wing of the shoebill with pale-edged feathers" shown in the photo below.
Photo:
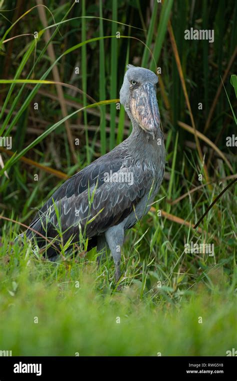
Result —
[[82, 229], [86, 227], [87, 237], [93, 237], [126, 218], [151, 184], [150, 171], [129, 158], [124, 161], [114, 154], [107, 160], [100, 158], [66, 180], [38, 211], [30, 227], [43, 233], [47, 225], [47, 236], [53, 237], [59, 215], [62, 232], [68, 232], [66, 237], [78, 236], [79, 224]]

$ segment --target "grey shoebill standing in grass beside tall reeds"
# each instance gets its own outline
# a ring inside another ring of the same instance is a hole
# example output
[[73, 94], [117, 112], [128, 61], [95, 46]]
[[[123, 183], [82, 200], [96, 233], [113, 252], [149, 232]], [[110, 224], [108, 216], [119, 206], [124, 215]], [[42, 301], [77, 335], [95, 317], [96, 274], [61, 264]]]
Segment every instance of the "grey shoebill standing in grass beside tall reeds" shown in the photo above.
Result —
[[68, 178], [18, 236], [34, 239], [39, 248], [52, 240], [44, 252], [48, 260], [60, 253], [60, 228], [64, 245], [79, 243], [83, 235], [87, 251], [96, 246], [97, 258], [109, 249], [119, 281], [124, 232], [148, 213], [164, 176], [157, 82], [152, 71], [127, 65], [119, 95], [132, 123], [130, 135]]

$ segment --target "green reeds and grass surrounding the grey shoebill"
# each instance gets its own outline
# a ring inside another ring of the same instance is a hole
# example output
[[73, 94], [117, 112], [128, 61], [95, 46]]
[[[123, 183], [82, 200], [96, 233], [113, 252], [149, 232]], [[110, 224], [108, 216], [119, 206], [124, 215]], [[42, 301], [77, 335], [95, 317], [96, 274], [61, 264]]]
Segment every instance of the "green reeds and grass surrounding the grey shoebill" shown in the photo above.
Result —
[[[27, 225], [66, 176], [128, 136], [116, 107], [127, 63], [161, 68], [167, 160], [157, 203], [126, 233], [120, 293], [109, 257], [98, 270], [95, 249], [48, 263], [28, 243], [13, 244], [22, 226], [0, 219], [0, 349], [225, 355], [234, 347], [236, 186], [193, 225], [236, 178], [235, 147], [226, 146], [236, 134], [236, 13], [224, 0], [0, 2], [0, 135], [12, 137], [12, 152], [0, 147], [0, 217]], [[213, 29], [214, 42], [185, 40], [191, 27]], [[191, 241], [214, 243], [214, 256], [184, 253]]]

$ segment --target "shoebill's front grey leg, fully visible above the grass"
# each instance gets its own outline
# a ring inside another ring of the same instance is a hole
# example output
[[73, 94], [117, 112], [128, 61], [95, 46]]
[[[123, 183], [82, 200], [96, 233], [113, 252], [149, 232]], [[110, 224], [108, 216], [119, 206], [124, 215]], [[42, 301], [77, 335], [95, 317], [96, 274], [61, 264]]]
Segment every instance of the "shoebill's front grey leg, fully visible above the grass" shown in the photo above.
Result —
[[[105, 232], [105, 238], [111, 251], [115, 265], [115, 281], [120, 278], [120, 258], [123, 244], [124, 230], [122, 225], [112, 226]], [[118, 289], [118, 288], [117, 288]]]

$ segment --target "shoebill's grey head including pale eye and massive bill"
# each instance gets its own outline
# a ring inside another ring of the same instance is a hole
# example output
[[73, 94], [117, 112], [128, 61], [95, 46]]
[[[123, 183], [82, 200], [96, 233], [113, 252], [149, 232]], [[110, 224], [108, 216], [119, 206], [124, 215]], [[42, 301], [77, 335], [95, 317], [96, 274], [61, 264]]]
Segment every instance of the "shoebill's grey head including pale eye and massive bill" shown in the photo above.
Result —
[[159, 128], [160, 116], [156, 100], [158, 77], [150, 70], [127, 65], [120, 90], [120, 103], [128, 116], [146, 133]]

